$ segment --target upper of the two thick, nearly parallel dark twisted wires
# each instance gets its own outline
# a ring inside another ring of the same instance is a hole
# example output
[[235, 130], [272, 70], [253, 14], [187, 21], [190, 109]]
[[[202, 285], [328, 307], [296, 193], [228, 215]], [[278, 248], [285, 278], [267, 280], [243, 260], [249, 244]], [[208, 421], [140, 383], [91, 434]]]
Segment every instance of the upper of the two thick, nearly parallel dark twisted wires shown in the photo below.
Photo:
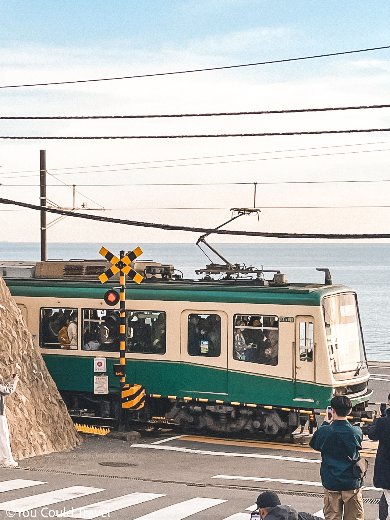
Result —
[[297, 108], [290, 110], [260, 110], [250, 112], [208, 112], [194, 114], [144, 114], [144, 115], [2, 115], [0, 119], [152, 119], [152, 118], [204, 118], [219, 115], [260, 115], [260, 114], [294, 114], [296, 112], [328, 112], [337, 110], [361, 110], [369, 108], [390, 108], [390, 105], [361, 105], [353, 107], [330, 108]]

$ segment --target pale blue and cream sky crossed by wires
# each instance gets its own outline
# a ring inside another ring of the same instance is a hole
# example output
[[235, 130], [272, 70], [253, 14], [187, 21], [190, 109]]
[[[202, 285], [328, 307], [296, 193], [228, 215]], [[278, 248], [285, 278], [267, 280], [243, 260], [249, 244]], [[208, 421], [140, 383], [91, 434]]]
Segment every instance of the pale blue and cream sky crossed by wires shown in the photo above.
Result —
[[[0, 86], [223, 67], [385, 46], [390, 45], [389, 15], [390, 4], [381, 0], [3, 1]], [[3, 88], [0, 114], [175, 114], [379, 105], [389, 103], [389, 77], [390, 49], [384, 49], [172, 76]], [[0, 135], [181, 135], [387, 128], [389, 111], [144, 120], [3, 120]], [[257, 216], [241, 217], [229, 224], [230, 229], [388, 232], [388, 207], [334, 206], [388, 206], [390, 183], [261, 183], [390, 180], [389, 132], [145, 140], [0, 139], [0, 197], [39, 204], [40, 149], [46, 149], [47, 197], [53, 205], [72, 207], [75, 185], [76, 207], [86, 204], [89, 208], [83, 211], [208, 228], [228, 220], [231, 207], [253, 206], [256, 182], [259, 220]], [[161, 186], [167, 183], [205, 185]], [[55, 218], [48, 216], [48, 222]], [[39, 240], [38, 212], [0, 205], [0, 219], [0, 241]], [[51, 226], [47, 235], [49, 242], [197, 239], [195, 233], [184, 231], [71, 217]], [[262, 240], [213, 238], [214, 242]]]

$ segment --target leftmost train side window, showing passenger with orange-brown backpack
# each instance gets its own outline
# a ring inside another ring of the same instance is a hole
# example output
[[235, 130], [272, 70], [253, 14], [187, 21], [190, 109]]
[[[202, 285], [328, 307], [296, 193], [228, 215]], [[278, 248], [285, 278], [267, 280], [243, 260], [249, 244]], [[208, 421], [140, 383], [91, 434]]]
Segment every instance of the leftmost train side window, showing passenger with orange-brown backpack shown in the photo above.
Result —
[[77, 309], [41, 307], [40, 347], [77, 349]]

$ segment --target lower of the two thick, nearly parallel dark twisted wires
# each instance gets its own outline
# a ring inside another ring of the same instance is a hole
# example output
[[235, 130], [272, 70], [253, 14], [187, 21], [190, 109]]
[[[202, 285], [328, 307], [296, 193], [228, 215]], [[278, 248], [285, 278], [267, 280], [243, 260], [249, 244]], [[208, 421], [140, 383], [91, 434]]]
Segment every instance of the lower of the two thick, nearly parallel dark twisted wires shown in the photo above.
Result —
[[109, 136], [0, 136], [0, 139], [188, 139], [194, 137], [272, 137], [284, 135], [356, 134], [390, 132], [390, 128], [359, 128], [353, 130], [313, 130], [306, 132], [263, 132], [256, 134], [193, 134], [193, 135], [109, 135]]

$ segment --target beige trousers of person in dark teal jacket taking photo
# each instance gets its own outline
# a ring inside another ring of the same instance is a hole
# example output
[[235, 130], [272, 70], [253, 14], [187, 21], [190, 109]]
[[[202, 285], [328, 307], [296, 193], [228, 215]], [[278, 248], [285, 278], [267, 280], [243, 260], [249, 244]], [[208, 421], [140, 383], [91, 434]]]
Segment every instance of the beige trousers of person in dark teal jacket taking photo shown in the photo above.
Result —
[[323, 515], [327, 520], [363, 520], [362, 488], [350, 491], [329, 491], [323, 488]]

